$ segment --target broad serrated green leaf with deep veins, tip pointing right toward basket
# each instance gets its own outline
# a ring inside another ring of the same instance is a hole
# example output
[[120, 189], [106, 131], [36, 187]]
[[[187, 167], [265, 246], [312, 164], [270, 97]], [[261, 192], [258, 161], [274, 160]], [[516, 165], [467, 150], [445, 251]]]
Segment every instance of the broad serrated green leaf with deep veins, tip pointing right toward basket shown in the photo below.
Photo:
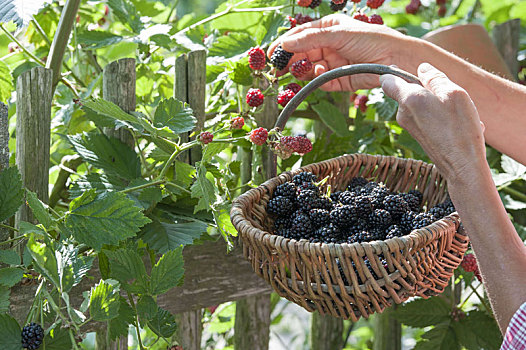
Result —
[[149, 222], [140, 208], [133, 205], [124, 193], [85, 192], [70, 204], [65, 227], [79, 242], [100, 251], [104, 244], [116, 245], [135, 236]]

